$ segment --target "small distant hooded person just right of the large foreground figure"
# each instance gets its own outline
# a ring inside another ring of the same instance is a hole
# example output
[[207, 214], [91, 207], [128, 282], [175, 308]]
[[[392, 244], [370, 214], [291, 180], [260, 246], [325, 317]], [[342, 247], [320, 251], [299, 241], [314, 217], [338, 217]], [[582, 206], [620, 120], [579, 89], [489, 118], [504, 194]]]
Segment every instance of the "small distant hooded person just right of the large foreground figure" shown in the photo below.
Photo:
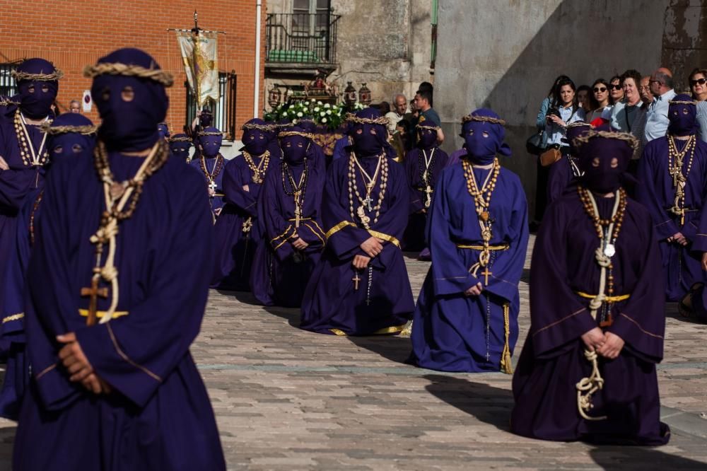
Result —
[[223, 132], [215, 127], [206, 127], [199, 131], [198, 139], [199, 156], [190, 161], [189, 165], [204, 175], [215, 222], [223, 208], [223, 168], [226, 166], [226, 159], [221, 155]]

